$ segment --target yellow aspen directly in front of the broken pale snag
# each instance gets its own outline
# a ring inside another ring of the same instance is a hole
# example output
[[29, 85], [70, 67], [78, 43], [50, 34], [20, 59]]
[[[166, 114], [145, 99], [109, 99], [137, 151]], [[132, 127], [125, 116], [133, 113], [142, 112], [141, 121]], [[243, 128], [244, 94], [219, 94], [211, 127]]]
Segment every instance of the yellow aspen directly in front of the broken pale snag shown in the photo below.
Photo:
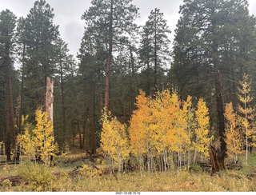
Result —
[[50, 155], [54, 156], [54, 142], [52, 121], [48, 121], [47, 113], [42, 112], [42, 109], [36, 110], [35, 120], [37, 125], [33, 130], [34, 146], [36, 155], [41, 158], [45, 164], [50, 163]]

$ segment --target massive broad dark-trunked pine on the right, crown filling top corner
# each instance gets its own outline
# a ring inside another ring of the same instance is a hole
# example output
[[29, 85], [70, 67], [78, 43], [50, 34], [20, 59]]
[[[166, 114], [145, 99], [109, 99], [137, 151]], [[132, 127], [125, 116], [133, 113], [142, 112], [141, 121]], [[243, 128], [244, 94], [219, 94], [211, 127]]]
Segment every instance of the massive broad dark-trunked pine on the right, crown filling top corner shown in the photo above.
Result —
[[[214, 94], [216, 107], [210, 105], [210, 109], [217, 112], [211, 121], [213, 124], [216, 121], [215, 126], [218, 126], [221, 161], [224, 162], [226, 142], [223, 102], [226, 100], [223, 94], [228, 87], [232, 98], [235, 93], [233, 86], [236, 84], [230, 82], [230, 74], [234, 70], [231, 76], [235, 78], [241, 64], [238, 62], [243, 62], [250, 56], [249, 50], [254, 50], [245, 36], [248, 34], [248, 38], [254, 40], [254, 27], [247, 32], [245, 30], [250, 22], [254, 23], [254, 18], [249, 16], [247, 2], [239, 0], [185, 0], [180, 14], [182, 17], [176, 29], [174, 66], [170, 77], [183, 96], [186, 96], [186, 90], [198, 97], [202, 97], [202, 94], [213, 97]], [[230, 59], [235, 60], [231, 62]], [[223, 82], [223, 78], [228, 82]]]

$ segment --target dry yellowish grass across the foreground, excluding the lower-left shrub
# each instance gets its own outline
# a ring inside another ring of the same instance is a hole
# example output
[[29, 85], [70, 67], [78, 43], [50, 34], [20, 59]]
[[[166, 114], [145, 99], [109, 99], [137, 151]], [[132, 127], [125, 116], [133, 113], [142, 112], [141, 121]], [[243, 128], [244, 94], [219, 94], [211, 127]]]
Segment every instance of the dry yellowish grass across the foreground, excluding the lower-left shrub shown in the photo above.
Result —
[[[71, 157], [71, 156], [70, 156]], [[65, 159], [66, 160], [66, 157]], [[243, 165], [240, 171], [225, 171], [218, 175], [210, 176], [209, 173], [190, 173], [189, 171], [177, 171], [171, 173], [141, 173], [138, 171], [118, 175], [118, 180], [110, 175], [98, 177], [66, 177], [66, 173], [82, 161], [72, 165], [62, 163], [62, 158], [53, 168], [52, 173], [63, 173], [61, 177], [54, 177], [46, 189], [22, 183], [18, 186], [0, 186], [0, 191], [74, 191], [74, 192], [254, 192], [256, 191], [256, 179], [249, 180], [247, 174], [256, 171], [256, 155], [250, 156], [249, 165]], [[98, 165], [101, 169], [106, 165]], [[0, 166], [0, 177], [18, 174], [18, 165]], [[239, 175], [237, 179], [230, 175]], [[193, 181], [194, 185], [184, 187], [186, 181]]]

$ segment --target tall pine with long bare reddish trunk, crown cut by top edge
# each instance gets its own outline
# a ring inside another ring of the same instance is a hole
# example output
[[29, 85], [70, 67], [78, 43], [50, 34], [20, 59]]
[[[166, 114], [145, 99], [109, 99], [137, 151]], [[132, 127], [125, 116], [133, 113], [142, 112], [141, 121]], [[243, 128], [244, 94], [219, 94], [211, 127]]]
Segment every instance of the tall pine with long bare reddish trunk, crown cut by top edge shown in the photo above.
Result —
[[[131, 0], [93, 0], [89, 10], [82, 15], [86, 26], [93, 30], [101, 30], [104, 44], [107, 45], [106, 59], [106, 90], [105, 107], [109, 109], [110, 100], [110, 67], [113, 51], [126, 38], [126, 30], [138, 16], [138, 8], [131, 4]], [[94, 31], [95, 32], [95, 31]]]

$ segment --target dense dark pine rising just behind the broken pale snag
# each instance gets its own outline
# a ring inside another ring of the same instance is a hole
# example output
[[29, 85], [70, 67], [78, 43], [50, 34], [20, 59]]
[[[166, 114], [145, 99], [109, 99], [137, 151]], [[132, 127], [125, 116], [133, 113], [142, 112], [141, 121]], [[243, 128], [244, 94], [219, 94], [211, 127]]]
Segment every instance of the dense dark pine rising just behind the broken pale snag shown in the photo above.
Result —
[[[45, 0], [34, 2], [26, 17], [26, 86], [30, 98], [38, 109], [46, 103], [46, 78], [54, 74], [54, 41], [58, 38], [58, 26], [53, 23], [54, 13]], [[34, 97], [33, 97], [34, 96]]]

